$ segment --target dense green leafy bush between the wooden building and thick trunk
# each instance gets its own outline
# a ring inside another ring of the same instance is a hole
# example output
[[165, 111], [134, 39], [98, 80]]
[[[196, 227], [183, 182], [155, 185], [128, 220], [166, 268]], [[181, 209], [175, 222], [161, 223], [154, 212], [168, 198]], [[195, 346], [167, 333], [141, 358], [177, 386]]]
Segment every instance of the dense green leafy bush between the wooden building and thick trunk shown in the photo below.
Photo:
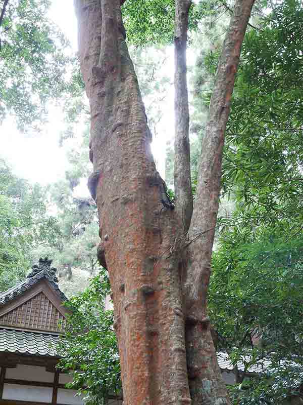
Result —
[[121, 391], [113, 311], [104, 310], [109, 293], [108, 275], [102, 270], [86, 291], [67, 302], [71, 315], [58, 347], [60, 369], [74, 371], [69, 387], [83, 392], [88, 404], [103, 403]]

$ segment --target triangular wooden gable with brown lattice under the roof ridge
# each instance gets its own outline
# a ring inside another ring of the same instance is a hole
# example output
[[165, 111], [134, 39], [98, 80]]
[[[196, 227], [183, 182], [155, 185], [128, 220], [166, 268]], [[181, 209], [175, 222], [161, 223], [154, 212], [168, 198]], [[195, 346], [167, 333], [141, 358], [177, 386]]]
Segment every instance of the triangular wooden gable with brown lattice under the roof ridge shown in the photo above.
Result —
[[61, 307], [61, 302], [52, 297], [52, 291], [47, 291], [46, 282], [43, 281], [42, 287], [36, 288], [34, 295], [31, 294], [26, 300], [17, 299], [14, 305], [2, 309], [0, 325], [49, 332], [64, 330], [66, 311]]

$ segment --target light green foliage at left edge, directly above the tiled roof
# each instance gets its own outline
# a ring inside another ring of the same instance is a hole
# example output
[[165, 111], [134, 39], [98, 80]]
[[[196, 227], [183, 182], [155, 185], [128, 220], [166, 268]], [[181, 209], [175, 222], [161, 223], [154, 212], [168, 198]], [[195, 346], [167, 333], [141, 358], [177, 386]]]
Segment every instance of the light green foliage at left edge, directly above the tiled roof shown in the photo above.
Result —
[[25, 277], [32, 248], [53, 246], [60, 237], [56, 218], [47, 214], [46, 189], [15, 176], [0, 160], [0, 290]]

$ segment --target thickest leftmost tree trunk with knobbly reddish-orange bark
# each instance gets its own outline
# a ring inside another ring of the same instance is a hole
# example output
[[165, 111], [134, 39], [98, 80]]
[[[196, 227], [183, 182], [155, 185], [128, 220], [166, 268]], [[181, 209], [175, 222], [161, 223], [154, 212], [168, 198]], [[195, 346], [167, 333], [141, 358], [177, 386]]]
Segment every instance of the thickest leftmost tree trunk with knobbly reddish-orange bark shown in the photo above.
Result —
[[189, 403], [181, 279], [170, 253], [178, 229], [150, 152], [120, 0], [79, 0], [76, 9], [91, 109], [98, 256], [113, 290], [124, 403]]

